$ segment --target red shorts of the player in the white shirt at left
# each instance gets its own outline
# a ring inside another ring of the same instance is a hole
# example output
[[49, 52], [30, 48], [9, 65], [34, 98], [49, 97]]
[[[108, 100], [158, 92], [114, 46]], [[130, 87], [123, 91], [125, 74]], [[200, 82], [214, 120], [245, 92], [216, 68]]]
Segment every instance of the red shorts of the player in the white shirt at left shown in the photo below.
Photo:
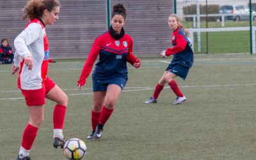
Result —
[[25, 97], [27, 106], [41, 106], [45, 104], [45, 95], [54, 88], [55, 83], [47, 77], [42, 84], [42, 88], [38, 90], [21, 90]]

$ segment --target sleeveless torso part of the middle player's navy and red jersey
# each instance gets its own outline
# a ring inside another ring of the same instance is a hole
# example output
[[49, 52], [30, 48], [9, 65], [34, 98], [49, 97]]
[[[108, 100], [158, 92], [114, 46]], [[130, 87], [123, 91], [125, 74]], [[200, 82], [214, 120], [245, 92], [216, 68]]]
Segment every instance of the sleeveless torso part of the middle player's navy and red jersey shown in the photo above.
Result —
[[99, 37], [100, 52], [99, 61], [96, 64], [93, 76], [97, 79], [124, 77], [127, 79], [126, 56], [129, 52], [129, 47], [132, 45], [131, 36], [124, 36], [119, 40], [112, 38], [109, 33]]

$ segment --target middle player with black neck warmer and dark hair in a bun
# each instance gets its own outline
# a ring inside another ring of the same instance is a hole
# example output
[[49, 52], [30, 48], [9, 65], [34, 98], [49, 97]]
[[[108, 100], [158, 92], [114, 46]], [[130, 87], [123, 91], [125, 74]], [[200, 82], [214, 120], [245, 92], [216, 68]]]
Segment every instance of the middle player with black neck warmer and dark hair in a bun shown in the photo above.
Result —
[[140, 67], [140, 60], [132, 54], [133, 40], [123, 28], [125, 17], [126, 10], [123, 4], [113, 6], [111, 26], [106, 33], [98, 36], [93, 42], [77, 81], [77, 86], [81, 90], [92, 70], [93, 63], [99, 56], [92, 74], [92, 134], [87, 139], [101, 137], [103, 126], [113, 113], [118, 96], [127, 83], [127, 61], [135, 68]]

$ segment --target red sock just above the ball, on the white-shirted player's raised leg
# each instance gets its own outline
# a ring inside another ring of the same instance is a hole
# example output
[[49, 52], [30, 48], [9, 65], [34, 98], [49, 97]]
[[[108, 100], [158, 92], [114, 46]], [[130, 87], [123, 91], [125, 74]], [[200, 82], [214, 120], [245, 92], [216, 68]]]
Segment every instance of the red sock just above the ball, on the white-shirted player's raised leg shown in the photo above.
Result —
[[66, 109], [66, 106], [56, 104], [52, 115], [53, 129], [63, 129]]

